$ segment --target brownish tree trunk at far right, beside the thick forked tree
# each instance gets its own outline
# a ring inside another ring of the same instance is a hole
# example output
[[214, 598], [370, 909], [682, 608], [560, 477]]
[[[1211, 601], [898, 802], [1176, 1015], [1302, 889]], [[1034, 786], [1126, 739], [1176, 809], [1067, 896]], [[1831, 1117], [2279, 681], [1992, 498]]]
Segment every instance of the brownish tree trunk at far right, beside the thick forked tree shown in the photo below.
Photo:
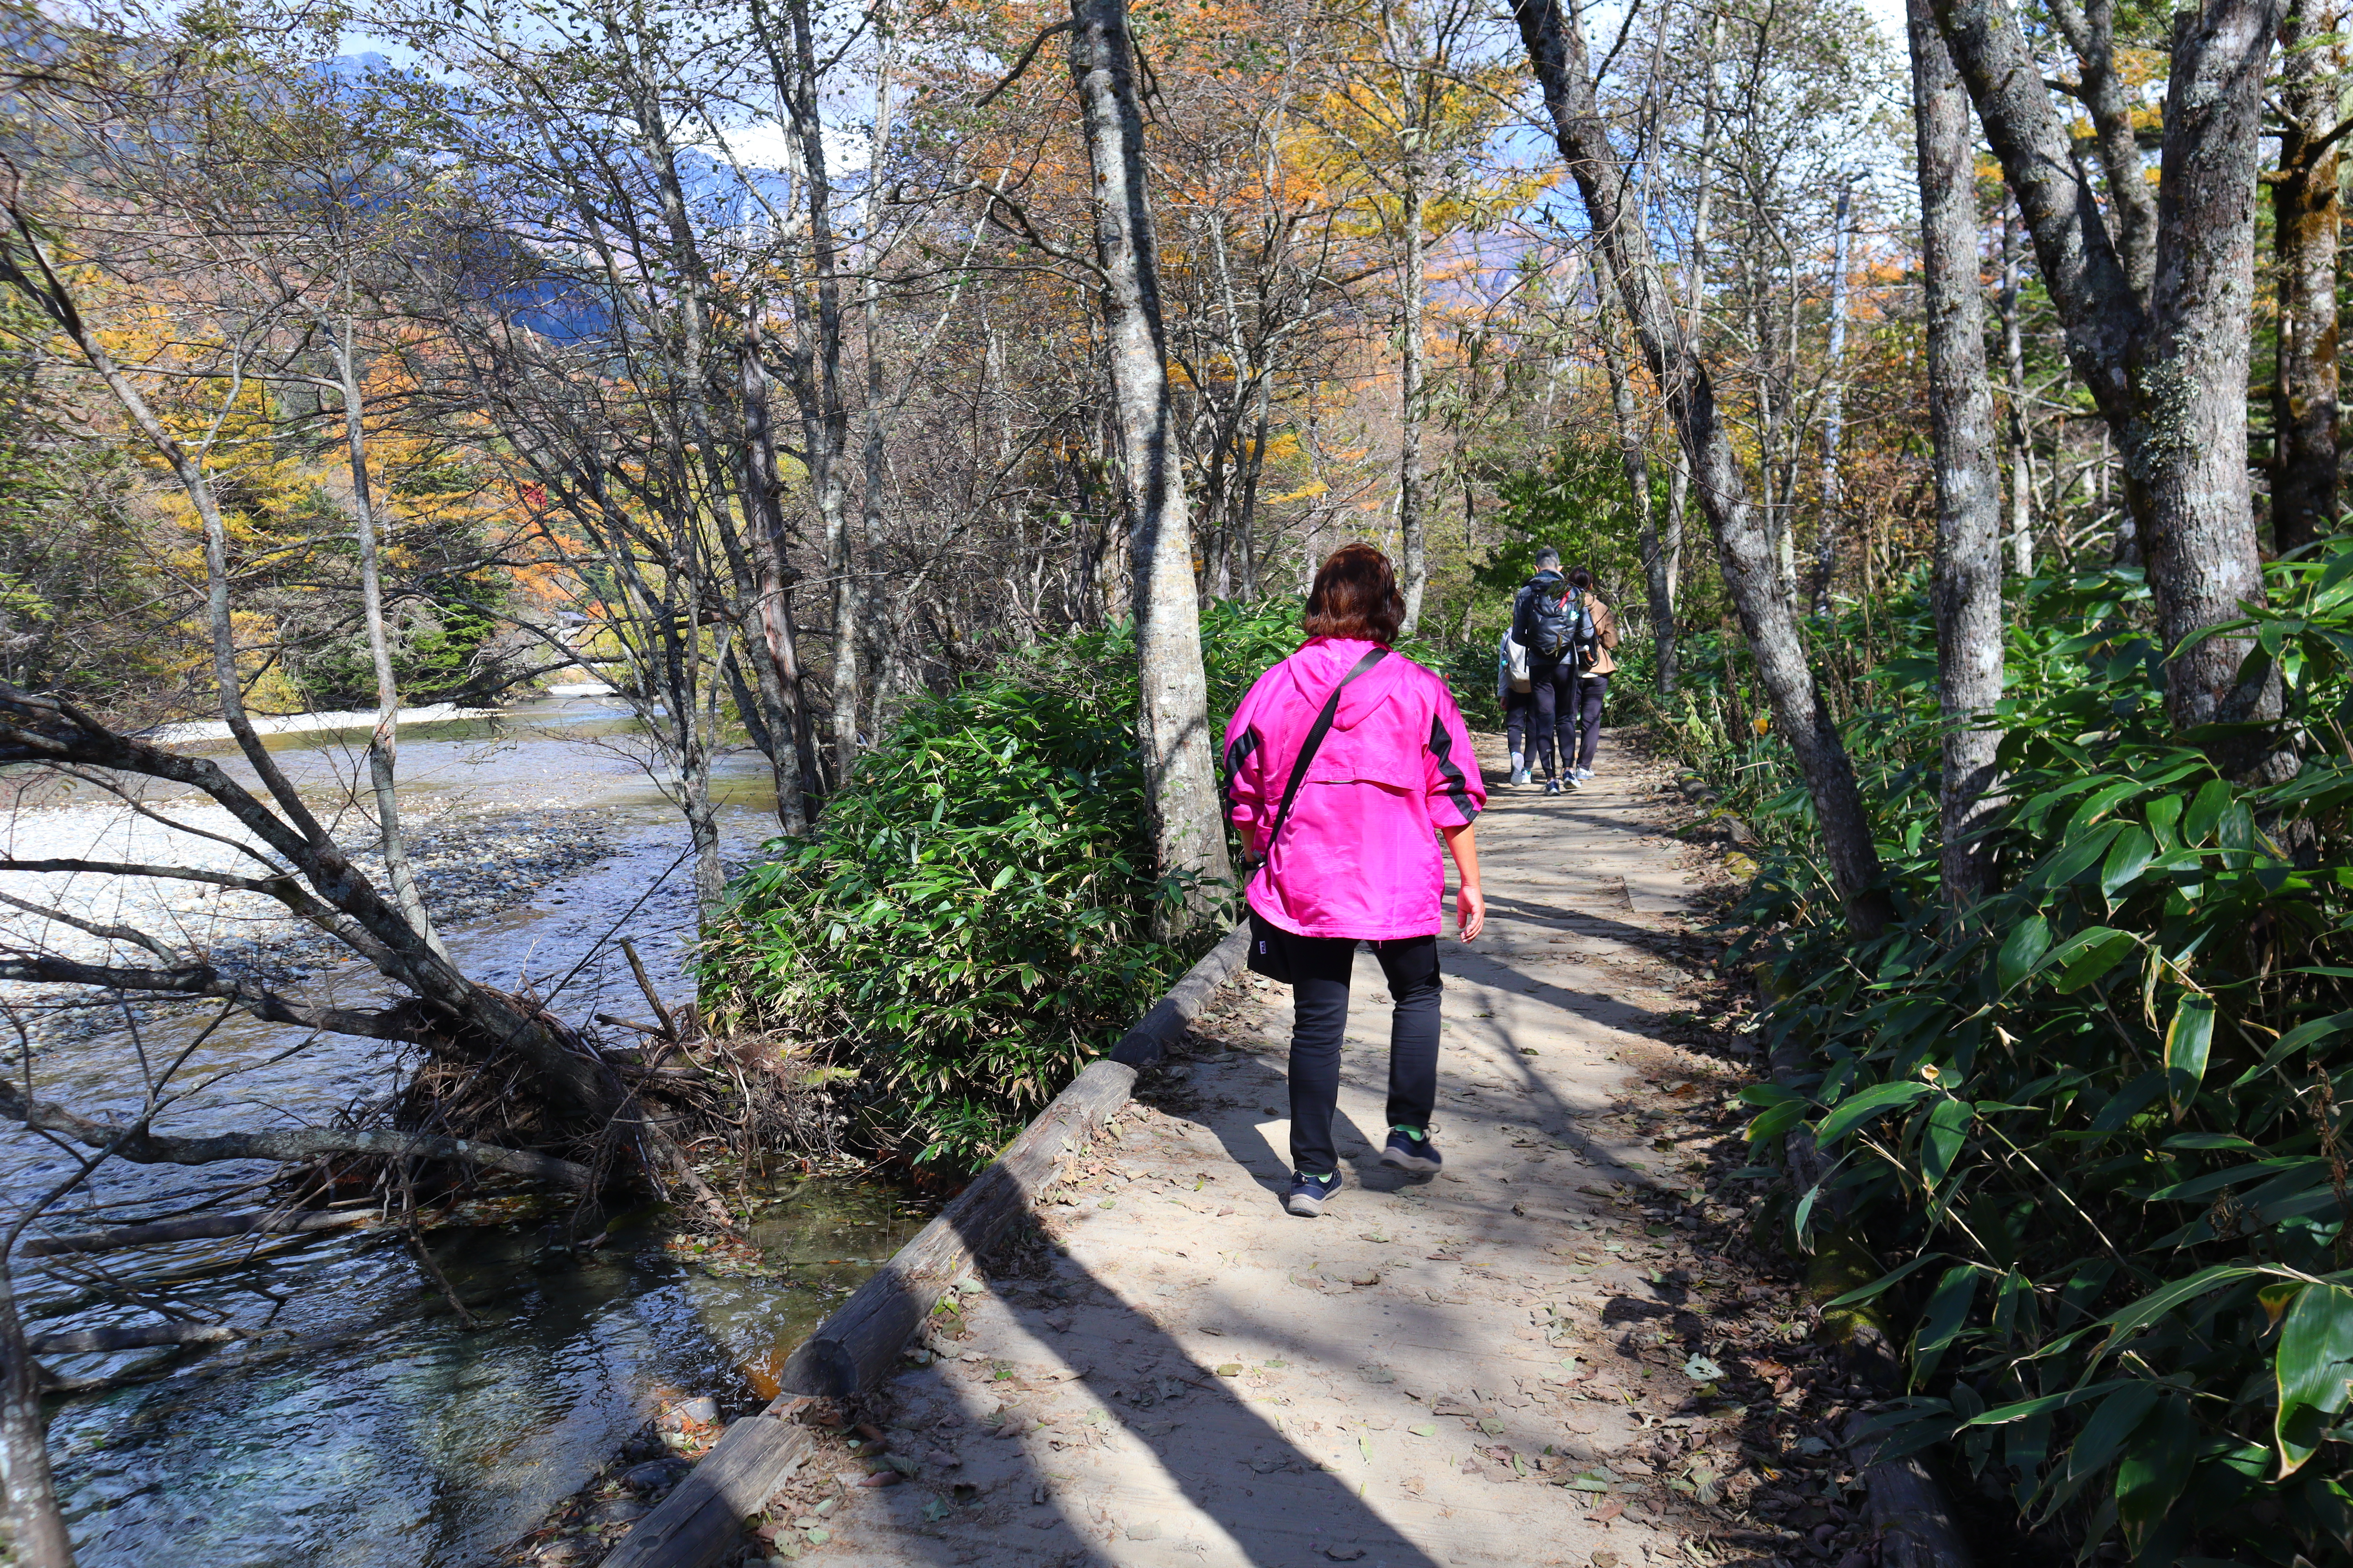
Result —
[[2285, 555], [2337, 529], [2339, 0], [2289, 0], [2280, 24], [2280, 167], [2271, 249], [2280, 350], [2271, 381], [2271, 541]]

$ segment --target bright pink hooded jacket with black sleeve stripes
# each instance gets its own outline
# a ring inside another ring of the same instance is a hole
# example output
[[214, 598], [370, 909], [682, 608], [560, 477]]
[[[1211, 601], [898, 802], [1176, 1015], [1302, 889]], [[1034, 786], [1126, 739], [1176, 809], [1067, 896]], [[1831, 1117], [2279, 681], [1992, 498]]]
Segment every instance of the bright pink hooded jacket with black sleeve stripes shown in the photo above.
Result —
[[[1252, 853], [1266, 853], [1315, 715], [1372, 646], [1311, 637], [1235, 708], [1226, 726], [1226, 806]], [[1391, 654], [1341, 693], [1282, 842], [1249, 879], [1249, 907], [1297, 936], [1438, 936], [1447, 867], [1435, 830], [1471, 823], [1485, 804], [1487, 783], [1454, 693]]]

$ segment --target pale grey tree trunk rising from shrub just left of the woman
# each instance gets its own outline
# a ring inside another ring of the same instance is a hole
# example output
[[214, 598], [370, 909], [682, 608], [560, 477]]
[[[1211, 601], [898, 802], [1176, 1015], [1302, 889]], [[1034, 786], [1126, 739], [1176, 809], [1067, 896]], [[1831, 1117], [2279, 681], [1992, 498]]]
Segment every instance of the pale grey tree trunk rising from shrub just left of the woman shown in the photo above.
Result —
[[1104, 277], [1111, 395], [1118, 411], [1120, 487], [1129, 517], [1136, 618], [1144, 790], [1162, 877], [1193, 877], [1160, 917], [1169, 936], [1200, 926], [1233, 882], [1209, 741], [1209, 684], [1200, 665], [1193, 531], [1176, 463], [1160, 259], [1144, 188], [1144, 115], [1136, 108], [1127, 0], [1071, 0], [1071, 80], [1094, 169], [1094, 252]]

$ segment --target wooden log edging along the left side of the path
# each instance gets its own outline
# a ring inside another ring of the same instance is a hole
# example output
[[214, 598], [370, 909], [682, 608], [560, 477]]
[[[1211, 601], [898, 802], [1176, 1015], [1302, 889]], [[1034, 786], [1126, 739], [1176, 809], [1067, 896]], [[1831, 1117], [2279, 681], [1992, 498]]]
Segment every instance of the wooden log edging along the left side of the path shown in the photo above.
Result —
[[638, 1521], [605, 1568], [708, 1568], [741, 1544], [744, 1519], [767, 1507], [809, 1458], [814, 1434], [798, 1418], [816, 1399], [842, 1399], [882, 1382], [958, 1276], [1028, 1211], [1061, 1164], [1087, 1147], [1209, 997], [1249, 957], [1249, 924], [1188, 969], [1111, 1056], [1089, 1063], [1068, 1088], [1005, 1145], [955, 1201], [859, 1286], [784, 1366], [784, 1394], [720, 1434], [687, 1479]]

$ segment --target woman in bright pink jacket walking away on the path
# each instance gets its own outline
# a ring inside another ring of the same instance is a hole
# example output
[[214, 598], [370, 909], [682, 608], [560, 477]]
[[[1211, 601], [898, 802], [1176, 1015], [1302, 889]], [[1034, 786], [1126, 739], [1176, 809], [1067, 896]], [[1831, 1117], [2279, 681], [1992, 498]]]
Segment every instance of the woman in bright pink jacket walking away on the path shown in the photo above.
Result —
[[[1461, 870], [1461, 940], [1487, 924], [1471, 830], [1487, 785], [1454, 693], [1388, 651], [1402, 621], [1388, 557], [1372, 545], [1339, 550], [1308, 592], [1306, 644], [1259, 677], [1226, 726], [1226, 802], [1242, 842], [1264, 858], [1249, 877], [1249, 907], [1264, 919], [1261, 936], [1282, 947], [1278, 969], [1292, 976], [1294, 1171], [1285, 1206], [1297, 1215], [1320, 1213], [1341, 1185], [1332, 1112], [1358, 943], [1372, 943], [1395, 997], [1381, 1164], [1417, 1175], [1442, 1164], [1431, 1147], [1447, 889], [1440, 835]], [[1282, 816], [1294, 764], [1334, 691], [1332, 724]]]

